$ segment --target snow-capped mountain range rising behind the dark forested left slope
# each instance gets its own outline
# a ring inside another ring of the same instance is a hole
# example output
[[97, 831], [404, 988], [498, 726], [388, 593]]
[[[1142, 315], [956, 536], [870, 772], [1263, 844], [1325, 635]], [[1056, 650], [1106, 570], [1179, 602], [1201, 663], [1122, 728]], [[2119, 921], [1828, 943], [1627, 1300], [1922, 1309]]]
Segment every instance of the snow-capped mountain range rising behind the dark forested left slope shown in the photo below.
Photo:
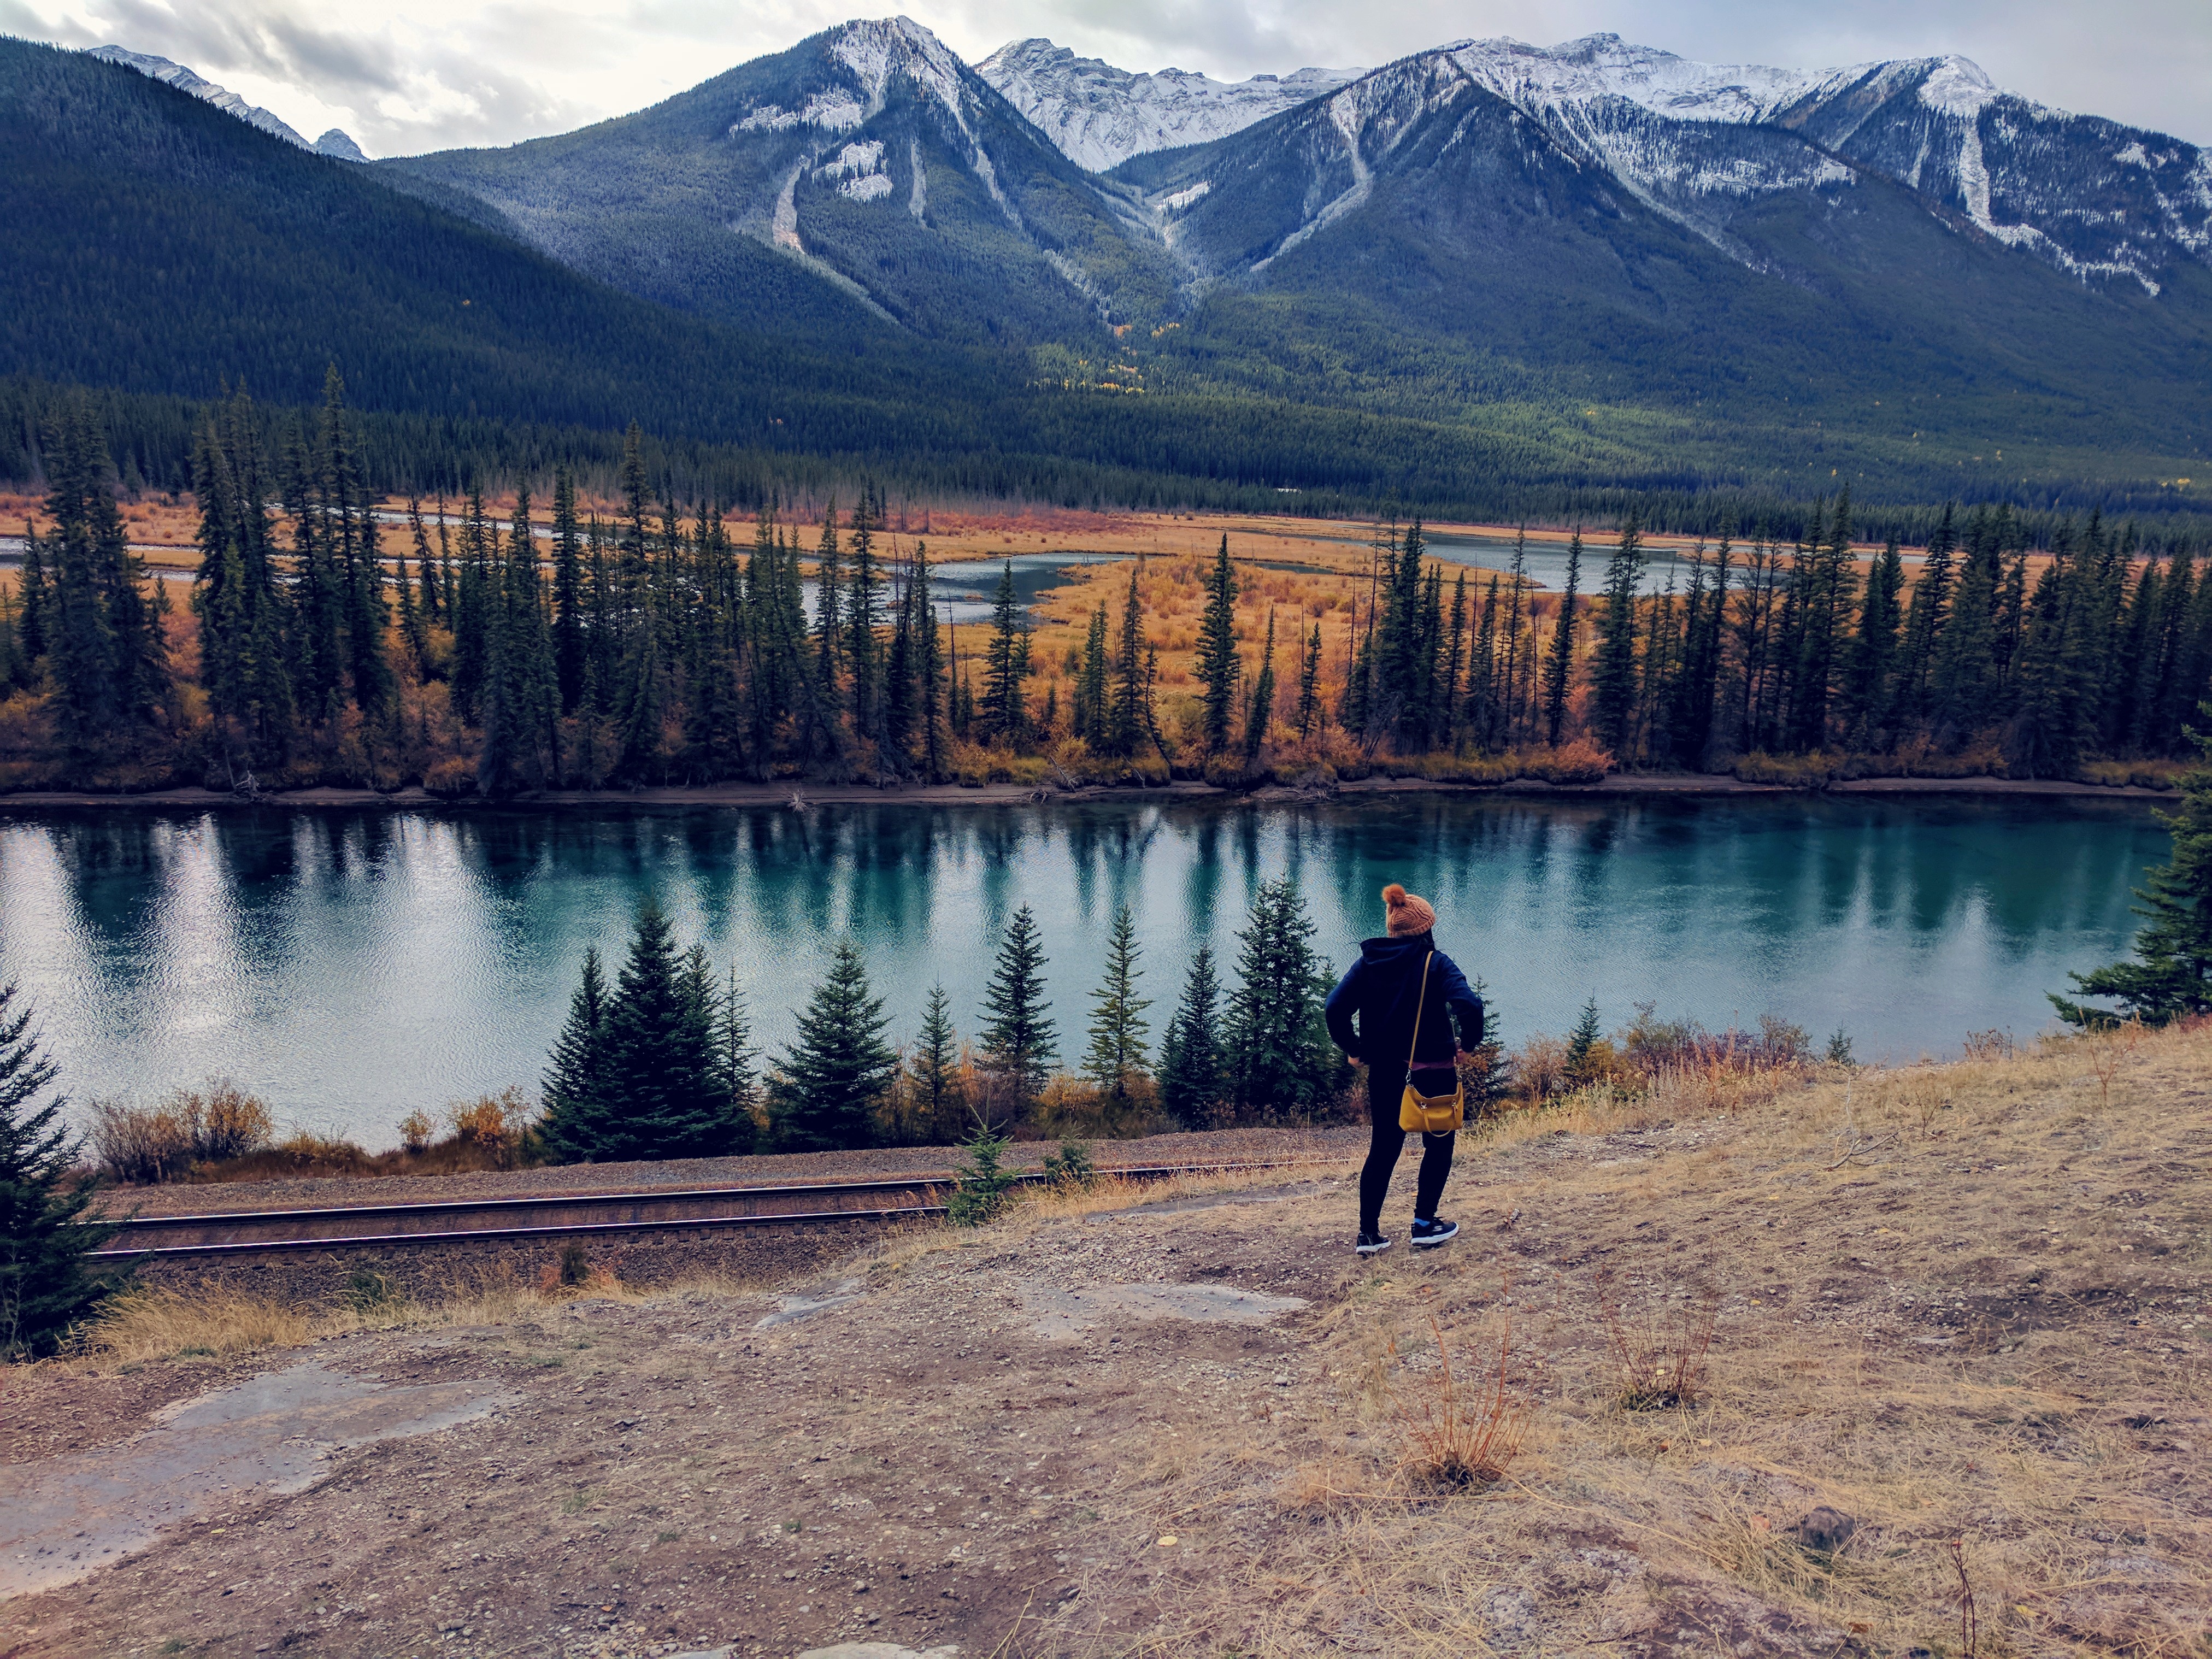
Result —
[[2150, 500], [2212, 442], [2212, 159], [1964, 58], [1462, 40], [1223, 84], [1048, 40], [971, 66], [894, 18], [352, 173], [732, 338], [885, 387], [980, 352], [991, 396], [1082, 394], [1130, 431], [1168, 416], [1102, 400], [1413, 420], [1588, 480]]

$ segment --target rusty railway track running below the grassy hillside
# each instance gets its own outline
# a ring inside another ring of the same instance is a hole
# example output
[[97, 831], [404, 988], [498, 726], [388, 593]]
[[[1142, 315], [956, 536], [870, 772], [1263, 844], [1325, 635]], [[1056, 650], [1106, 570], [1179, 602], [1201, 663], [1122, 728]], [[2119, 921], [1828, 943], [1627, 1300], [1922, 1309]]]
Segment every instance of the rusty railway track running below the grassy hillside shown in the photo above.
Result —
[[[1177, 1175], [1239, 1175], [1312, 1168], [1336, 1161], [1150, 1164], [1106, 1168], [1099, 1175], [1121, 1181], [1168, 1181]], [[1044, 1181], [1042, 1175], [1022, 1175], [1015, 1179], [1020, 1183]], [[124, 1219], [115, 1239], [95, 1250], [93, 1259], [254, 1256], [285, 1250], [436, 1245], [591, 1232], [776, 1228], [810, 1221], [914, 1221], [942, 1214], [951, 1188], [953, 1177], [949, 1175], [920, 1175], [889, 1181], [564, 1192], [526, 1199], [153, 1214]]]

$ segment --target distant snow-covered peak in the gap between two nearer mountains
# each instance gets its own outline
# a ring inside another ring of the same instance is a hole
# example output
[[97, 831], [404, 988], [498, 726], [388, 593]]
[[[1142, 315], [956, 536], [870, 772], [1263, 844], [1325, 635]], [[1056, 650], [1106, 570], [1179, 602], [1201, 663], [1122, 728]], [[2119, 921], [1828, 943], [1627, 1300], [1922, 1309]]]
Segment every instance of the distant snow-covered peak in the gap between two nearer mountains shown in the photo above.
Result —
[[1009, 104], [1044, 131], [1060, 153], [1104, 173], [1133, 155], [1241, 133], [1285, 108], [1332, 93], [1356, 69], [1301, 69], [1219, 82], [1183, 69], [1135, 75], [1077, 58], [1051, 40], [1009, 40], [975, 64]]

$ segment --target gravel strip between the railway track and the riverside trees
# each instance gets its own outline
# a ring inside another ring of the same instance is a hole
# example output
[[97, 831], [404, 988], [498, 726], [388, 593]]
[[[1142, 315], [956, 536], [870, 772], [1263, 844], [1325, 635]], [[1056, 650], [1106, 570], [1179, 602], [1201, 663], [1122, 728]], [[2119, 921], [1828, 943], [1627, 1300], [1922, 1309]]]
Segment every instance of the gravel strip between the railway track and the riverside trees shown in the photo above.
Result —
[[[1217, 1128], [1146, 1135], [1135, 1141], [1088, 1141], [1099, 1168], [1146, 1164], [1261, 1164], [1270, 1159], [1358, 1157], [1365, 1126]], [[1006, 1164], [1035, 1170], [1057, 1141], [1015, 1141]], [[215, 1210], [310, 1210], [365, 1203], [440, 1203], [453, 1199], [535, 1199], [573, 1192], [648, 1192], [661, 1186], [763, 1186], [776, 1181], [878, 1181], [949, 1175], [953, 1146], [874, 1146], [856, 1152], [770, 1152], [761, 1157], [688, 1157], [653, 1164], [560, 1164], [538, 1170], [473, 1175], [316, 1177], [285, 1181], [204, 1181], [115, 1188], [111, 1212], [208, 1214]]]

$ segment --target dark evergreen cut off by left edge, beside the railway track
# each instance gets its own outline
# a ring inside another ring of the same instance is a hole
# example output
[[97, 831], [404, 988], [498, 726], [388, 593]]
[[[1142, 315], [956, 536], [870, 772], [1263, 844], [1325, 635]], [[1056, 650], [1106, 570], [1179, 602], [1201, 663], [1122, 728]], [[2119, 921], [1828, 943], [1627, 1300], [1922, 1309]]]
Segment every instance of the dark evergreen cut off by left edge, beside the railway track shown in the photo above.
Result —
[[35, 1097], [55, 1079], [40, 1055], [31, 1009], [0, 984], [0, 1358], [53, 1354], [113, 1287], [86, 1256], [115, 1237], [88, 1221], [95, 1177], [77, 1175], [80, 1144], [62, 1121], [62, 1097]]

